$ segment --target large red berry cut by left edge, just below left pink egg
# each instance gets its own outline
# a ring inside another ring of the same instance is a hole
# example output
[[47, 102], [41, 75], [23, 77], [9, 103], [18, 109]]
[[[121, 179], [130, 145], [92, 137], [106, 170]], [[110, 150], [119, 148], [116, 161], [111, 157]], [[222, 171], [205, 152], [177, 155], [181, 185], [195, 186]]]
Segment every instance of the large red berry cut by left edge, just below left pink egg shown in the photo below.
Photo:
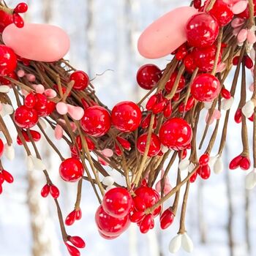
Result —
[[8, 75], [16, 67], [17, 56], [14, 51], [5, 45], [0, 45], [0, 75]]

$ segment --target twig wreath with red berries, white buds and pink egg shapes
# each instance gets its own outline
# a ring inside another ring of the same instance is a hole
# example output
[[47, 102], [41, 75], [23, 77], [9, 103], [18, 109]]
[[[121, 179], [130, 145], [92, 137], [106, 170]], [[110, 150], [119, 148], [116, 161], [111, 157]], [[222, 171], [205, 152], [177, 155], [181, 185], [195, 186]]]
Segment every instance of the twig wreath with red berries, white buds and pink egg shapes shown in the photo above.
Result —
[[[136, 222], [140, 232], [147, 233], [158, 217], [165, 229], [173, 223], [181, 201], [180, 228], [169, 249], [174, 253], [182, 246], [187, 252], [192, 251], [185, 227], [189, 186], [198, 178], [210, 178], [211, 170], [214, 173], [223, 170], [222, 152], [238, 86], [241, 95], [236, 95], [240, 102], [234, 118], [241, 124], [242, 147], [241, 154], [232, 159], [229, 167], [251, 168], [246, 127], [249, 119], [254, 128], [253, 168], [246, 176], [246, 188], [255, 187], [254, 4], [252, 0], [205, 3], [195, 0], [190, 7], [168, 12], [148, 26], [138, 40], [140, 54], [157, 59], [171, 53], [173, 59], [164, 70], [154, 64], [140, 67], [137, 80], [140, 87], [148, 90], [146, 95], [137, 104], [119, 102], [113, 110], [99, 101], [86, 72], [76, 70], [62, 59], [69, 49], [69, 38], [64, 31], [44, 24], [24, 25], [20, 13], [27, 11], [25, 3], [15, 9], [0, 5], [0, 129], [7, 142], [4, 145], [0, 140], [0, 155], [5, 153], [8, 159], [15, 158], [12, 136], [4, 121], [10, 118], [18, 133], [17, 143], [26, 151], [27, 168], [45, 174], [41, 194], [42, 197], [50, 194], [56, 203], [62, 238], [70, 255], [80, 255], [79, 249], [85, 246], [82, 238], [69, 236], [66, 230], [82, 217], [83, 181], [91, 184], [99, 200], [95, 220], [103, 238], [117, 238], [130, 222]], [[236, 72], [228, 86], [225, 80], [233, 66]], [[249, 90], [246, 69], [252, 71], [254, 78]], [[15, 94], [16, 109], [8, 97], [10, 90]], [[251, 92], [252, 97], [246, 102], [246, 93]], [[208, 111], [206, 127], [203, 137], [196, 139], [203, 109]], [[220, 127], [222, 115], [225, 121]], [[213, 123], [215, 128], [206, 142], [208, 128]], [[66, 141], [70, 148], [68, 159], [48, 137], [46, 124], [54, 130], [56, 140]], [[221, 134], [219, 141], [218, 134]], [[36, 142], [41, 136], [59, 156], [61, 178], [78, 183], [74, 210], [65, 220], [58, 203], [59, 189], [50, 179], [37, 149]], [[219, 151], [217, 156], [211, 156], [215, 143], [219, 143]], [[206, 149], [202, 152], [201, 148]], [[168, 172], [176, 159], [177, 180], [172, 188]], [[124, 176], [126, 187], [108, 175], [106, 165]], [[181, 172], [186, 170], [187, 177], [182, 179]], [[12, 181], [12, 175], [1, 166], [0, 194], [4, 184]], [[182, 186], [186, 186], [183, 198]], [[165, 208], [165, 201], [172, 196], [173, 206]]]

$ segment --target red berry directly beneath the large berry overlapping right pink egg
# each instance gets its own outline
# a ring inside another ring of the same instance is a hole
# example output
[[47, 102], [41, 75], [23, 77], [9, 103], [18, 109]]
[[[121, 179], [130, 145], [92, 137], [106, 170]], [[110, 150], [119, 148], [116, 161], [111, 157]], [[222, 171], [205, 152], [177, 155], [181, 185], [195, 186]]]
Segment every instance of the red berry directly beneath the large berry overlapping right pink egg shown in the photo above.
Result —
[[[206, 48], [194, 48], [192, 50], [194, 63], [201, 72], [210, 72], [214, 68], [216, 52], [216, 45], [210, 45]], [[218, 64], [221, 60], [222, 53], [219, 54]]]

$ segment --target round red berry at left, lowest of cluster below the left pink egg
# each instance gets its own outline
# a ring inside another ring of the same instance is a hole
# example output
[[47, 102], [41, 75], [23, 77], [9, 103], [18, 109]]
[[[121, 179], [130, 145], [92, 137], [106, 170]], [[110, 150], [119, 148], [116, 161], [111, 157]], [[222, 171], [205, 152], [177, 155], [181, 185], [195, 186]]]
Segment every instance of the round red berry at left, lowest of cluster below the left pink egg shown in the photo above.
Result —
[[34, 127], [38, 121], [37, 110], [34, 110], [34, 108], [27, 108], [26, 106], [20, 106], [15, 110], [14, 120], [18, 127]]

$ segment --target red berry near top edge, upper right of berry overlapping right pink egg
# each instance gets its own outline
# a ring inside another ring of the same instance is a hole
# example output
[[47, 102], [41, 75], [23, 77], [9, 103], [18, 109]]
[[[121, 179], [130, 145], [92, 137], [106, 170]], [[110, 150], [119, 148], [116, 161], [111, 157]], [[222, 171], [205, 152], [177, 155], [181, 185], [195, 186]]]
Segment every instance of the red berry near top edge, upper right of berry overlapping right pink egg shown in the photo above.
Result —
[[209, 11], [218, 20], [219, 26], [226, 26], [233, 19], [233, 12], [223, 0], [217, 0]]

